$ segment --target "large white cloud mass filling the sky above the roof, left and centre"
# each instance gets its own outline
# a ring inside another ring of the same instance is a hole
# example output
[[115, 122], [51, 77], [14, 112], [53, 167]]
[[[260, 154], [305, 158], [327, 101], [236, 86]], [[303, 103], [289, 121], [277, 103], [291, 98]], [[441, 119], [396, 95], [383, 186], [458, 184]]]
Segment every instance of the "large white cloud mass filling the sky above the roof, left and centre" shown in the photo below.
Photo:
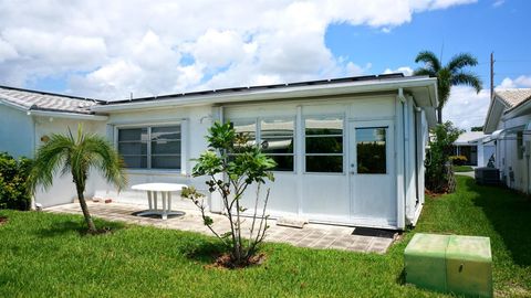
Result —
[[69, 76], [70, 92], [112, 99], [358, 75], [371, 64], [334, 56], [330, 24], [389, 31], [471, 2], [0, 0], [0, 83]]

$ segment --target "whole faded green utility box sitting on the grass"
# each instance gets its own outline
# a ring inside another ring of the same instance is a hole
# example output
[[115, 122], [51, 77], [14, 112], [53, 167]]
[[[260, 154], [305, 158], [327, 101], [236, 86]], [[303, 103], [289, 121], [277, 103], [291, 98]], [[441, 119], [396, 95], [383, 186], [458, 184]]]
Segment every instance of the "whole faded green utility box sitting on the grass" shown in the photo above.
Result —
[[492, 297], [488, 237], [415, 234], [404, 252], [406, 283], [454, 294]]

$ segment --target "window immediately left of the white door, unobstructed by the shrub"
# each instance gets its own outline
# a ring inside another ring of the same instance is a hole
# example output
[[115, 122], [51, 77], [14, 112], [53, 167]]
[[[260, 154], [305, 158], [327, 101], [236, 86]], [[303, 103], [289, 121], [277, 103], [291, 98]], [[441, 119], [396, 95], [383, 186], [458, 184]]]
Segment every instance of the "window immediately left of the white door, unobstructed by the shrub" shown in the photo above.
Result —
[[343, 118], [304, 120], [306, 172], [343, 172]]

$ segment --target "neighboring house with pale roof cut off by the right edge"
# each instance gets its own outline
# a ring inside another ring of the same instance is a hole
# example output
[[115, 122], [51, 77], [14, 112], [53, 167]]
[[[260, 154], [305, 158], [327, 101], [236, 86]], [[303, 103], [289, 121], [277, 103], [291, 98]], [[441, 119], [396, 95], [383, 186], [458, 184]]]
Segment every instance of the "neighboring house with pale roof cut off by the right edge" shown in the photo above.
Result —
[[529, 193], [531, 153], [531, 88], [494, 92], [485, 132], [496, 145], [496, 168], [509, 188]]

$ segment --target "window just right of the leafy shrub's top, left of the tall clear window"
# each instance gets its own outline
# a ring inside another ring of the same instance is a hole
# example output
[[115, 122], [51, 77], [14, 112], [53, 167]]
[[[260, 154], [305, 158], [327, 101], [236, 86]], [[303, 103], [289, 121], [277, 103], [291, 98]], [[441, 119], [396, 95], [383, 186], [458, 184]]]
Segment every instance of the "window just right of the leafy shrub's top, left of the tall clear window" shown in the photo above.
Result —
[[277, 161], [274, 171], [293, 171], [293, 118], [269, 118], [260, 121], [262, 152]]

